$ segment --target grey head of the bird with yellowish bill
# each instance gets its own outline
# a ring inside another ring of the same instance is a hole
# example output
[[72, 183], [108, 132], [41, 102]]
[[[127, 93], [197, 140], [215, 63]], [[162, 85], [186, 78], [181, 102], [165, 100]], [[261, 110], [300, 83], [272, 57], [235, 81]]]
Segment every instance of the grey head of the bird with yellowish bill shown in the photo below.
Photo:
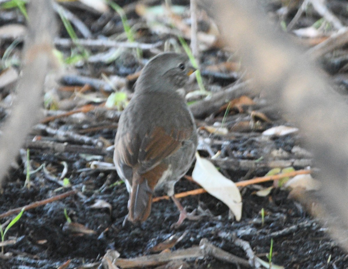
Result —
[[144, 66], [135, 91], [176, 91], [188, 82], [195, 70], [185, 54], [160, 53]]

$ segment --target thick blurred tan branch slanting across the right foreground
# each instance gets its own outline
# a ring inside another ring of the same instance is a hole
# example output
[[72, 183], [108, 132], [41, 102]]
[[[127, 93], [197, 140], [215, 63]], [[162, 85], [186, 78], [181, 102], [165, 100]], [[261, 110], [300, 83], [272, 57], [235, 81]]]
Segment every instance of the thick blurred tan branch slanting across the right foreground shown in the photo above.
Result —
[[[283, 32], [275, 32], [256, 1], [202, 1], [222, 31], [225, 43], [237, 44], [254, 87], [280, 104], [306, 137], [307, 148], [321, 168], [323, 201], [340, 221], [331, 232], [348, 249], [348, 121], [347, 103], [331, 90], [304, 51]], [[323, 216], [322, 216], [323, 217]]]

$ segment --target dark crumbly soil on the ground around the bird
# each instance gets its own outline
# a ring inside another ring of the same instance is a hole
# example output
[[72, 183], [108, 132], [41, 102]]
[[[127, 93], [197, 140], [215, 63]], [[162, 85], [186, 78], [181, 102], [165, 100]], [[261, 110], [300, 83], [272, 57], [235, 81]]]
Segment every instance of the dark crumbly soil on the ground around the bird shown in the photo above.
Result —
[[[125, 4], [128, 2], [126, 1]], [[95, 37], [98, 35], [110, 36], [114, 33], [120, 34], [123, 31], [119, 17], [113, 13], [96, 16], [82, 12], [74, 6], [67, 5], [66, 7], [75, 12], [92, 29]], [[276, 8], [278, 6], [268, 7], [272, 12]], [[23, 23], [23, 17], [19, 12], [16, 13], [16, 16], [15, 21]], [[133, 23], [141, 20], [135, 12], [130, 12], [128, 16], [133, 19]], [[290, 20], [294, 14], [291, 13], [289, 16]], [[106, 29], [104, 26], [110, 20], [114, 20], [114, 27]], [[6, 23], [9, 22], [2, 22], [2, 24]], [[61, 27], [60, 37], [68, 37], [63, 27]], [[145, 34], [137, 41], [155, 43], [159, 40], [166, 40], [168, 37], [172, 36], [151, 34], [145, 31]], [[4, 46], [9, 44], [4, 44]], [[64, 50], [64, 52], [69, 53], [69, 50]], [[134, 60], [132, 51], [127, 53], [122, 54], [123, 58], [118, 58], [111, 65], [98, 63], [92, 66], [85, 63], [76, 69], [79, 70], [80, 74], [90, 77], [98, 77], [96, 74], [102, 73], [103, 70], [125, 77], [139, 71], [143, 65], [143, 62]], [[127, 55], [130, 55], [129, 58], [126, 57]], [[143, 57], [148, 59], [153, 55], [154, 53], [145, 51]], [[210, 88], [215, 86], [218, 90], [222, 90], [223, 87], [231, 85], [238, 79], [242, 72], [239, 74], [204, 70], [205, 66], [225, 62], [228, 58], [231, 58], [231, 54], [218, 48], [211, 48], [202, 53], [202, 74], [206, 86]], [[328, 59], [327, 61], [331, 62], [332, 60]], [[133, 83], [134, 81], [129, 81], [128, 92], [130, 95]], [[65, 84], [68, 82], [65, 81]], [[4, 89], [3, 91], [3, 97], [5, 97], [9, 90]], [[294, 146], [301, 144], [300, 135], [292, 134], [271, 138], [265, 138], [261, 135], [262, 131], [269, 127], [289, 124], [279, 117], [278, 110], [270, 110], [270, 114], [267, 114], [268, 117], [272, 118], [272, 121], [264, 122], [252, 118], [251, 111], [261, 111], [270, 107], [267, 102], [264, 102], [265, 100], [258, 98], [254, 98], [254, 100], [259, 107], [247, 106], [244, 111], [238, 113], [231, 110], [225, 121], [226, 127], [229, 129], [227, 136], [212, 135], [203, 129], [199, 131], [201, 138], [211, 141], [210, 147], [214, 153], [221, 150], [220, 159], [215, 160], [215, 164], [223, 164], [226, 158], [237, 162], [250, 160], [258, 163], [253, 168], [222, 166], [221, 172], [235, 182], [265, 175], [272, 168], [270, 162], [274, 160], [296, 158], [307, 158], [306, 160], [308, 160], [308, 157], [298, 157], [292, 152]], [[1, 111], [1, 115], [3, 118], [7, 112]], [[224, 112], [211, 111], [207, 118], [197, 119], [197, 125], [202, 127], [213, 125], [215, 122], [221, 123], [223, 115]], [[110, 127], [110, 125], [116, 123], [117, 117], [115, 118], [103, 117], [98, 114], [98, 111], [91, 111], [86, 114], [82, 123], [77, 123], [71, 118], [69, 121], [69, 117], [67, 117], [51, 121], [47, 126], [63, 131], [83, 133], [83, 135], [94, 139], [103, 138], [104, 142], [107, 141], [112, 145], [117, 128]], [[238, 129], [238, 124], [243, 122], [246, 122], [247, 126], [243, 130]], [[105, 128], [84, 132], [88, 128], [98, 126], [105, 126]], [[37, 130], [28, 137], [28, 141], [31, 141], [35, 135], [40, 135], [44, 141], [83, 145], [73, 139], [69, 140], [69, 138], [64, 138], [62, 141], [62, 138]], [[106, 148], [106, 146], [104, 148], [97, 145], [89, 146], [100, 151]], [[171, 200], [154, 203], [149, 219], [143, 224], [133, 225], [126, 222], [125, 226], [122, 226], [127, 215], [128, 193], [125, 184], [113, 184], [119, 180], [116, 172], [90, 169], [89, 160], [86, 159], [90, 155], [86, 157], [86, 155], [80, 154], [85, 152], [62, 153], [49, 149], [31, 147], [29, 149], [32, 168], [38, 168], [45, 163], [49, 172], [40, 170], [32, 174], [30, 177], [31, 187], [24, 187], [26, 176], [23, 171], [26, 168], [24, 168], [23, 161], [25, 158], [18, 157], [18, 166], [9, 170], [7, 183], [3, 186], [0, 196], [1, 213], [71, 190], [72, 187], [62, 187], [58, 184], [64, 168], [62, 161], [68, 165], [68, 173], [65, 177], [69, 178], [71, 186], [79, 193], [25, 211], [22, 218], [6, 234], [5, 239], [15, 238], [16, 243], [5, 246], [5, 254], [0, 257], [1, 269], [56, 269], [68, 260], [70, 260], [70, 264], [64, 268], [84, 268], [82, 266], [86, 263], [100, 263], [101, 258], [109, 249], [117, 250], [122, 258], [147, 255], [150, 254], [151, 247], [163, 242], [171, 235], [180, 237], [183, 234], [182, 240], [172, 250], [199, 245], [202, 238], [207, 238], [215, 246], [247, 259], [245, 252], [233, 243], [232, 238], [237, 236], [249, 242], [254, 253], [267, 261], [266, 255], [270, 251], [271, 239], [273, 239], [272, 262], [274, 264], [289, 269], [347, 268], [347, 253], [330, 239], [326, 233], [327, 229], [306, 213], [299, 202], [288, 198], [286, 190], [274, 188], [266, 197], [259, 197], [254, 194], [256, 190], [259, 190], [259, 186], [243, 188], [241, 190], [243, 214], [239, 222], [235, 221], [234, 218], [229, 218], [228, 208], [221, 201], [209, 194], [201, 194], [181, 199], [188, 211], [197, 209], [198, 214], [202, 215], [201, 219], [198, 221], [185, 220], [183, 225], [176, 230], [172, 229], [171, 225], [178, 219], [179, 211]], [[285, 152], [286, 157], [275, 157], [272, 155], [275, 150]], [[208, 151], [203, 147], [199, 148], [199, 152], [202, 156], [209, 157]], [[94, 154], [94, 158], [100, 157], [98, 160], [112, 162], [111, 154], [112, 152], [105, 153], [103, 151], [103, 154]], [[302, 169], [307, 165], [294, 165], [294, 168]], [[189, 171], [190, 173], [191, 171]], [[270, 184], [264, 183], [262, 186], [270, 186]], [[195, 183], [181, 179], [175, 186], [175, 192], [179, 193], [195, 188], [198, 188]], [[111, 211], [108, 208], [91, 208], [90, 206], [96, 200], [109, 203]], [[263, 226], [261, 209], [265, 210], [266, 215]], [[78, 222], [95, 233], [81, 234], [69, 230], [64, 210], [73, 222]], [[1, 219], [1, 223], [13, 217]], [[238, 268], [234, 264], [224, 263], [211, 257], [191, 259], [187, 262], [190, 268]], [[93, 268], [97, 267], [98, 265], [95, 265]]]

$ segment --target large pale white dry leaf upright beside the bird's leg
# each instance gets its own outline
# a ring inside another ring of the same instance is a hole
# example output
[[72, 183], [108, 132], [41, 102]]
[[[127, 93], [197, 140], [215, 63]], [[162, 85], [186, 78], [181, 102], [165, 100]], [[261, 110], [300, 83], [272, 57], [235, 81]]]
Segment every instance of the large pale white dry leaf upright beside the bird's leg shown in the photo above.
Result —
[[224, 177], [210, 161], [203, 159], [196, 153], [196, 165], [192, 172], [192, 178], [201, 185], [209, 194], [223, 203], [236, 216], [239, 221], [242, 217], [242, 196], [238, 187], [232, 180]]

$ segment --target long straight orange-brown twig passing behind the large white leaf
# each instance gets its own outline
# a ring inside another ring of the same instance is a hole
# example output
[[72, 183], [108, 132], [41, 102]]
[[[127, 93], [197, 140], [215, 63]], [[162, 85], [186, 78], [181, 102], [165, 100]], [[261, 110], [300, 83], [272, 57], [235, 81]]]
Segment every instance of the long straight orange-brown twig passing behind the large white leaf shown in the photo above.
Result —
[[[297, 171], [278, 174], [278, 175], [255, 177], [253, 179], [236, 182], [235, 184], [237, 187], [245, 187], [245, 186], [252, 185], [252, 184], [258, 184], [258, 183], [267, 182], [267, 181], [271, 181], [271, 180], [277, 180], [277, 179], [280, 179], [283, 177], [294, 177], [296, 175], [305, 175], [305, 174], [310, 174], [310, 173], [311, 173], [311, 170], [297, 170]], [[206, 192], [207, 191], [204, 190], [203, 188], [199, 188], [199, 189], [196, 189], [193, 191], [187, 191], [187, 192], [181, 192], [181, 193], [174, 194], [174, 197], [175, 198], [182, 198], [182, 197], [186, 197], [189, 195], [197, 195], [197, 194], [202, 194], [202, 193], [206, 193]], [[155, 197], [152, 199], [152, 202], [158, 202], [158, 201], [164, 200], [164, 199], [169, 200], [169, 198], [170, 197], [167, 195]]]

